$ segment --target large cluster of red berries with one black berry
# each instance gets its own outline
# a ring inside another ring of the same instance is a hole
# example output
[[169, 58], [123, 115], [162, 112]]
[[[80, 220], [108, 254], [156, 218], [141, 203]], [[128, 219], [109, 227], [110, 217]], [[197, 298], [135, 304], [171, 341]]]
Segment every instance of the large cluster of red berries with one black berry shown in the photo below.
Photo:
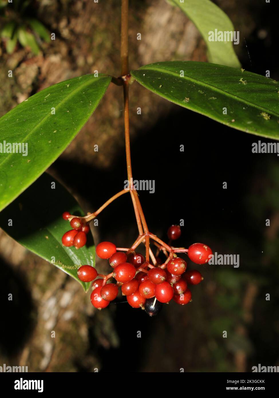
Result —
[[[171, 240], [179, 238], [180, 234], [179, 226], [173, 225], [168, 230]], [[205, 264], [212, 251], [204, 244], [195, 243], [188, 248], [187, 253], [194, 263]], [[101, 259], [109, 259], [113, 272], [105, 277], [98, 274], [94, 267], [82, 265], [78, 269], [78, 278], [83, 282], [93, 281], [90, 298], [98, 309], [107, 307], [115, 300], [121, 288], [122, 295], [127, 297], [130, 306], [145, 309], [152, 316], [161, 310], [162, 304], [172, 299], [178, 304], [187, 304], [191, 301], [188, 285], [197, 285], [203, 280], [199, 271], [186, 271], [186, 261], [175, 256], [164, 264], [156, 257], [157, 263], [154, 266], [140, 253], [117, 251], [111, 242], [99, 243], [96, 254]], [[100, 279], [96, 279], [98, 275], [101, 276]], [[116, 283], [107, 283], [111, 277]]]

